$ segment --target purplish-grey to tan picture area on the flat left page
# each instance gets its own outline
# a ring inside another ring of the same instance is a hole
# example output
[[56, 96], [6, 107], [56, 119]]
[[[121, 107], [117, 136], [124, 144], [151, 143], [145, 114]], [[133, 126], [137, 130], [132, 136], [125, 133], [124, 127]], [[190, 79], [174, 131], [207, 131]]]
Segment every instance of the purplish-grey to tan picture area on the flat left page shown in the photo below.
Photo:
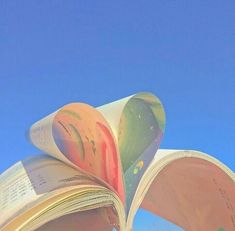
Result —
[[102, 182], [46, 155], [37, 155], [22, 161], [36, 194], [79, 185], [102, 185]]

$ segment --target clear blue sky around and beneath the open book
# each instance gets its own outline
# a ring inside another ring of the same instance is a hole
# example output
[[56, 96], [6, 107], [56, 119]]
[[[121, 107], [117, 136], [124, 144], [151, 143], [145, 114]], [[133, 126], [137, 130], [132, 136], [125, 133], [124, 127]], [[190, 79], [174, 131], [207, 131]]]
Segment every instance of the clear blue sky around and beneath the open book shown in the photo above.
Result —
[[[48, 113], [139, 91], [165, 106], [161, 148], [235, 171], [234, 22], [234, 0], [0, 0], [0, 172], [39, 152], [25, 132]], [[137, 217], [134, 231], [178, 230]]]

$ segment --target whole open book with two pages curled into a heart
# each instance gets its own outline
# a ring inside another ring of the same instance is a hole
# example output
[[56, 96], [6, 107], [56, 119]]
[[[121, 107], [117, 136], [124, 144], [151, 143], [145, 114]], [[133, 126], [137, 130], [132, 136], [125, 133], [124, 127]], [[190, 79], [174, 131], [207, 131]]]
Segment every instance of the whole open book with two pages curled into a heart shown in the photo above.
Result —
[[36, 122], [29, 139], [44, 154], [0, 175], [0, 230], [130, 231], [139, 207], [184, 230], [235, 230], [234, 173], [202, 152], [158, 149], [164, 127], [150, 93]]

